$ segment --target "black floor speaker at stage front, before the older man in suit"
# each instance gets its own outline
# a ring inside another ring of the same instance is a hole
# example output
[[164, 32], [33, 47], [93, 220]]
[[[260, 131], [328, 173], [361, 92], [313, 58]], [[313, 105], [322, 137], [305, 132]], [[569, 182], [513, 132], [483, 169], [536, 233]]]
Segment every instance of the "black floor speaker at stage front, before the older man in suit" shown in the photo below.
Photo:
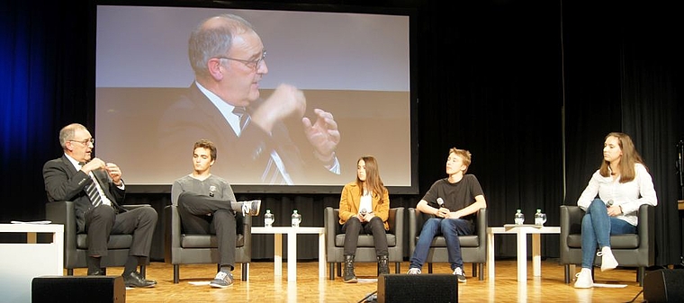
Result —
[[31, 282], [31, 302], [126, 302], [121, 276], [41, 276]]

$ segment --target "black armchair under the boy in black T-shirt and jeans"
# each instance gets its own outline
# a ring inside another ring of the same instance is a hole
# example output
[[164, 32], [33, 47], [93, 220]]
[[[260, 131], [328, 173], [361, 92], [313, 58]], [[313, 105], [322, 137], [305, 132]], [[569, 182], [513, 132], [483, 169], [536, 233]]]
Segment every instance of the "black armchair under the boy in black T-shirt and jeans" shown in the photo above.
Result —
[[[420, 212], [418, 209], [409, 209], [409, 252], [413, 254], [416, 243], [423, 230], [423, 224], [428, 220], [428, 214]], [[477, 211], [475, 217], [475, 230], [473, 235], [458, 236], [461, 241], [461, 255], [464, 263], [473, 263], [473, 277], [478, 276], [479, 280], [484, 280], [484, 263], [487, 262], [487, 209]], [[444, 236], [435, 236], [430, 245], [428, 258], [428, 273], [432, 273], [432, 263], [449, 262], [449, 254], [446, 251], [446, 240]], [[479, 269], [479, 274], [478, 274]]]

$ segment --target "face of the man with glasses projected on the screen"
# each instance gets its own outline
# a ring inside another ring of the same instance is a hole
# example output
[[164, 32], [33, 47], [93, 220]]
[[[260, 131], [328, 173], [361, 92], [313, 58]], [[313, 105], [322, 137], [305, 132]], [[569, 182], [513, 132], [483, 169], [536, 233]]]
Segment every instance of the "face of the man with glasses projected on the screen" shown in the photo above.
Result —
[[[221, 97], [234, 106], [248, 106], [259, 98], [259, 81], [268, 73], [264, 44], [254, 31], [233, 38], [232, 47], [223, 59]], [[259, 60], [261, 59], [261, 60]], [[258, 63], [257, 63], [258, 61]]]

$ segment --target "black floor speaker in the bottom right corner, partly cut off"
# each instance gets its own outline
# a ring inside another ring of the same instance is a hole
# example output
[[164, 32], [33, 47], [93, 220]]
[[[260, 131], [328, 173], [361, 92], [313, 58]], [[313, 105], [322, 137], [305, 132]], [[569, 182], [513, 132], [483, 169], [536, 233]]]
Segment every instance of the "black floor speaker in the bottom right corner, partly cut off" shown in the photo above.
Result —
[[684, 301], [684, 269], [646, 272], [644, 299], [649, 303]]

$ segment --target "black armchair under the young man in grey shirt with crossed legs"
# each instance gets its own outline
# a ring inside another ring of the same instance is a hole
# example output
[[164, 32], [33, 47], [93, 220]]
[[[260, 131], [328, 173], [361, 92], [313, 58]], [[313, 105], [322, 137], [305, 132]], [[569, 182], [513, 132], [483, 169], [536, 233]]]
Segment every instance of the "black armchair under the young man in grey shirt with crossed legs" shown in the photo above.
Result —
[[[215, 235], [190, 235], [183, 232], [181, 217], [174, 205], [164, 209], [164, 260], [174, 265], [174, 283], [180, 280], [181, 264], [216, 263], [219, 264], [218, 240]], [[252, 261], [252, 217], [235, 216], [236, 250], [235, 263], [241, 263], [242, 281], [248, 280], [249, 263]]]

